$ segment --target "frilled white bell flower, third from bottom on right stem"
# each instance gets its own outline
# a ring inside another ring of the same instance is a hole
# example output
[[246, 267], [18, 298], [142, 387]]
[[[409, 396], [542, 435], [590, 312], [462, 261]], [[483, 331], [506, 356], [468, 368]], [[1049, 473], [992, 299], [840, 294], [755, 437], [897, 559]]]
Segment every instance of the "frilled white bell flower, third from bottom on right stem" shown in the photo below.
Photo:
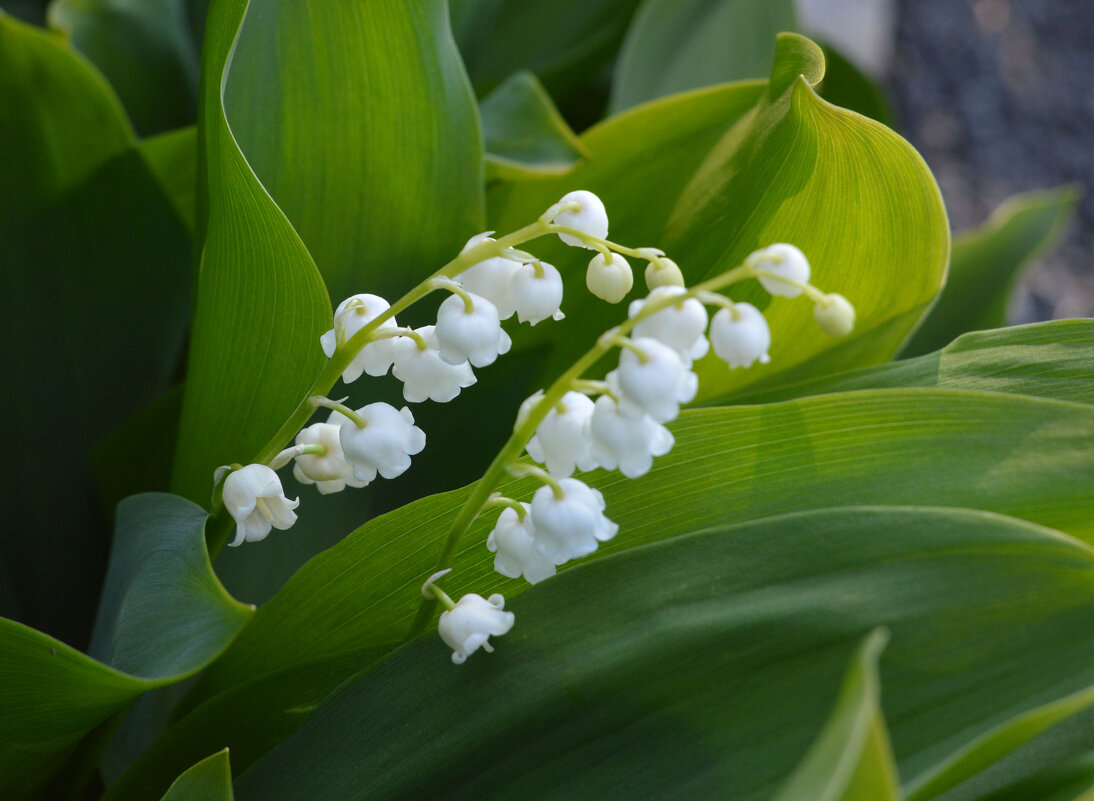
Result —
[[562, 478], [559, 485], [561, 498], [549, 486], [537, 489], [528, 512], [536, 549], [556, 565], [592, 554], [619, 531], [604, 516], [600, 490], [577, 478]]

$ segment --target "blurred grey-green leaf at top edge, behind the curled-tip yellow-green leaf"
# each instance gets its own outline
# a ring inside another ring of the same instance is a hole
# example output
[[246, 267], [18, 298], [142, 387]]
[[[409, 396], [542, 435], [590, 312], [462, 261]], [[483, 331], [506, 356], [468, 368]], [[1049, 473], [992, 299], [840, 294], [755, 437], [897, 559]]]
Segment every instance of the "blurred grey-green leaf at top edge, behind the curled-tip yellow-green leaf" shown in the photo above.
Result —
[[792, 0], [644, 0], [619, 49], [609, 113], [666, 94], [763, 78]]

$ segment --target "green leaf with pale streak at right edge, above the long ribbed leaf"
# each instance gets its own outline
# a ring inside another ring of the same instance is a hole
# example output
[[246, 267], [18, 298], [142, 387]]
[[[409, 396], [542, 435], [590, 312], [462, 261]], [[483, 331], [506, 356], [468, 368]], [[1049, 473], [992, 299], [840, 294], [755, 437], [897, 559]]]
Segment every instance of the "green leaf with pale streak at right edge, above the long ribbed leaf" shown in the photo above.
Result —
[[767, 392], [746, 392], [733, 399], [770, 403], [856, 390], [936, 387], [1089, 404], [1094, 403], [1092, 363], [1094, 321], [1060, 320], [973, 332], [936, 353], [849, 370]]

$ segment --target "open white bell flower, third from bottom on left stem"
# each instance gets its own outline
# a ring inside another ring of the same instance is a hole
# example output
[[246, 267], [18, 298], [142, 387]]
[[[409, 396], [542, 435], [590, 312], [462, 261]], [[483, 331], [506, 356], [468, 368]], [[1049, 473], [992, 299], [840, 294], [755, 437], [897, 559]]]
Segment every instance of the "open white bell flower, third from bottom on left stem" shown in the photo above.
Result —
[[401, 476], [410, 466], [410, 457], [426, 446], [426, 434], [414, 425], [410, 409], [375, 403], [357, 414], [364, 419], [363, 428], [347, 418], [338, 431], [342, 453], [353, 465], [353, 477], [371, 481], [377, 473], [384, 478]]

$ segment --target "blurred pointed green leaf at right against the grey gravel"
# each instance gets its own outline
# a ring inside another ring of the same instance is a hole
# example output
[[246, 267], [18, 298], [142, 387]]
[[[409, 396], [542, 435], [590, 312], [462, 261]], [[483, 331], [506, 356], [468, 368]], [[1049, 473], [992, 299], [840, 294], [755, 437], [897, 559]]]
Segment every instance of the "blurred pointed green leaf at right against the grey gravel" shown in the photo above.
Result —
[[1078, 202], [1074, 187], [1016, 195], [982, 227], [957, 235], [946, 288], [901, 356], [930, 352], [966, 332], [1006, 325], [1006, 306], [1022, 269], [1059, 241]]

